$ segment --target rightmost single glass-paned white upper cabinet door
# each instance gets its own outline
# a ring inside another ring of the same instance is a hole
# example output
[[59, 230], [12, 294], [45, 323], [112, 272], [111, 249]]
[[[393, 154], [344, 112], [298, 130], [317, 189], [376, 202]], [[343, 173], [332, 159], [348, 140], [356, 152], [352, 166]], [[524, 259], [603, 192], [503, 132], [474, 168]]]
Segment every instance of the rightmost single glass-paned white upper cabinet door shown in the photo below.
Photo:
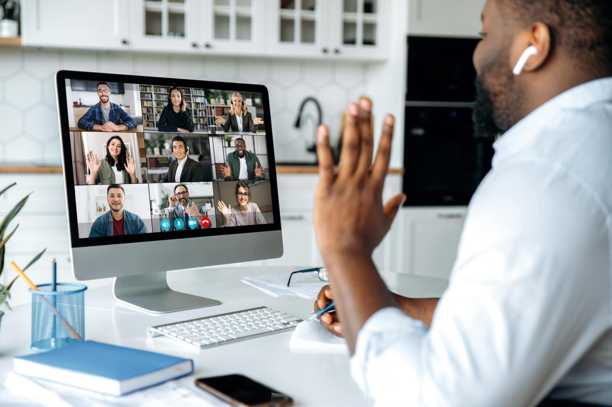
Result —
[[377, 60], [387, 56], [391, 2], [330, 1], [327, 26], [330, 53], [341, 59]]

